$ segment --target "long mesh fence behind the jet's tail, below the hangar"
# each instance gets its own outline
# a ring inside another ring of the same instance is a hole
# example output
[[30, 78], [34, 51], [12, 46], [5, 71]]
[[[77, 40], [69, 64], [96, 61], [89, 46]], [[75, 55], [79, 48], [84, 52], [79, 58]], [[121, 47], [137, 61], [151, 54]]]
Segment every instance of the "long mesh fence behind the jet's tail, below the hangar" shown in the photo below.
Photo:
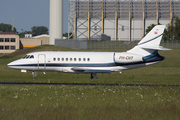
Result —
[[[87, 49], [130, 49], [139, 41], [87, 41]], [[180, 40], [161, 41], [161, 46], [170, 49], [180, 49]]]

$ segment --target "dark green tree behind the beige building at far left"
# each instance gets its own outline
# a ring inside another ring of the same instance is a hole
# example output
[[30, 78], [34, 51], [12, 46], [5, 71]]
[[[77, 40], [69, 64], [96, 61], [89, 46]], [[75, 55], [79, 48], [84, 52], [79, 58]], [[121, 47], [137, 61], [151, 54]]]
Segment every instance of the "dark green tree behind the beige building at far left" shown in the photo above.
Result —
[[10, 24], [4, 24], [4, 23], [1, 23], [0, 24], [0, 31], [1, 32], [14, 32], [14, 33], [17, 33], [17, 30], [16, 28], [14, 27], [13, 31], [12, 31], [12, 25]]

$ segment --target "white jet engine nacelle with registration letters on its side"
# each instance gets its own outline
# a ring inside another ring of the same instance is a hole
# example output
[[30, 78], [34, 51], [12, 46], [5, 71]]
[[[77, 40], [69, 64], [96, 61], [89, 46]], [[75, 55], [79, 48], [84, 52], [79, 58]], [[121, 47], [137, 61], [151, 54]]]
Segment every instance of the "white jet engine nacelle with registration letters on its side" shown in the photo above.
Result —
[[115, 63], [133, 63], [141, 62], [143, 58], [141, 55], [131, 54], [131, 53], [115, 53], [114, 62]]

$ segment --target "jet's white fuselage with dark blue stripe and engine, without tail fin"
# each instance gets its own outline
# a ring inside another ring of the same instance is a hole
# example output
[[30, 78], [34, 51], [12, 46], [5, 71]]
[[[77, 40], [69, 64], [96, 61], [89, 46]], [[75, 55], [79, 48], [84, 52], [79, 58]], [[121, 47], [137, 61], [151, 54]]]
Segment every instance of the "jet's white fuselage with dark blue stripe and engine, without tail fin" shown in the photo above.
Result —
[[[33, 57], [32, 57], [33, 56]], [[30, 71], [59, 71], [83, 73], [84, 70], [121, 71], [143, 67], [158, 61], [144, 62], [142, 56], [126, 52], [51, 52], [27, 54], [13, 61], [8, 67]]]

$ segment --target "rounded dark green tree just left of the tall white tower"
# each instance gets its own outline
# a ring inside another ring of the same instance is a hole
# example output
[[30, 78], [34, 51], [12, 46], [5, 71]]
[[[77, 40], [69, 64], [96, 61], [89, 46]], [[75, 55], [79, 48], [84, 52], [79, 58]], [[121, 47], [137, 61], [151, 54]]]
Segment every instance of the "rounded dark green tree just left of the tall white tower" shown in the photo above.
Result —
[[42, 35], [42, 34], [48, 34], [48, 28], [45, 26], [34, 26], [31, 28], [32, 35], [37, 36], [37, 35]]

